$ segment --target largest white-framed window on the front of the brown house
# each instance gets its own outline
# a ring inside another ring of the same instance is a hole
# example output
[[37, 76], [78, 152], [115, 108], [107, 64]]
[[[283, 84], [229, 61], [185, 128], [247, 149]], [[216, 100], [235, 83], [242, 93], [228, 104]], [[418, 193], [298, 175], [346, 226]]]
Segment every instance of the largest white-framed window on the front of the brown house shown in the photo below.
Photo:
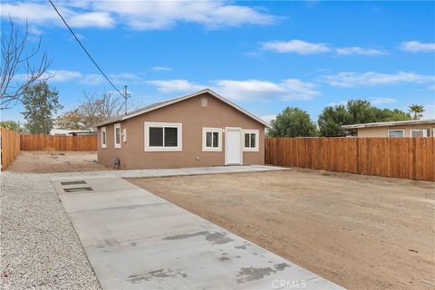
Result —
[[145, 123], [145, 151], [182, 151], [182, 124], [168, 122]]

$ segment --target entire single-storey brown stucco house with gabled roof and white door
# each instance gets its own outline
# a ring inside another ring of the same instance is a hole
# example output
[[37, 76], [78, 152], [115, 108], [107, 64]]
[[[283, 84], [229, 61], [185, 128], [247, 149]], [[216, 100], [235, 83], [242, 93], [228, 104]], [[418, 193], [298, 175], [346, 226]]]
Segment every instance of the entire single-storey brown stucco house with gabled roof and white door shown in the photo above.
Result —
[[98, 126], [98, 161], [120, 169], [265, 163], [265, 129], [248, 111], [205, 89]]

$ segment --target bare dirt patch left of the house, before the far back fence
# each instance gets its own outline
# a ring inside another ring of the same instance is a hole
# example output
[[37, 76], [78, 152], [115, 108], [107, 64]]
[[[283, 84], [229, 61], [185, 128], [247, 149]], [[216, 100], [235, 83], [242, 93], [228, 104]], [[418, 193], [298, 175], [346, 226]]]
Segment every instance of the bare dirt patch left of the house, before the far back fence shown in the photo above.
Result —
[[26, 173], [81, 172], [109, 170], [94, 162], [97, 152], [90, 151], [21, 151], [7, 168]]

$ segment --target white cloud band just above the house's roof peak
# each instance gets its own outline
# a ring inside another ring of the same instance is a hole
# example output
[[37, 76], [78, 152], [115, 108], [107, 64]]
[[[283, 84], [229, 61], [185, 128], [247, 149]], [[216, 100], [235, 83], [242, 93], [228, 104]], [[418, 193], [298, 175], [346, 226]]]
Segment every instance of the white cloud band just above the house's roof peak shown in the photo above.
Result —
[[[208, 87], [187, 80], [148, 81], [160, 92], [194, 92]], [[266, 82], [260, 80], [218, 80], [212, 82], [212, 90], [234, 101], [265, 101], [280, 99], [282, 101], [311, 100], [321, 93], [314, 90], [311, 82], [287, 79], [283, 82]]]

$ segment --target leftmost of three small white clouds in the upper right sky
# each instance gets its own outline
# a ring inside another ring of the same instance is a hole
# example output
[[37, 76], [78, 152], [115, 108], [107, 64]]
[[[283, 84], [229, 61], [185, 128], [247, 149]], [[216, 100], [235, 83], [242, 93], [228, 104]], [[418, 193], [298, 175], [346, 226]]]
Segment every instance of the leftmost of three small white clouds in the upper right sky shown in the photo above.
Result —
[[266, 51], [274, 51], [277, 53], [298, 53], [298, 54], [314, 54], [328, 53], [331, 48], [324, 43], [307, 43], [302, 40], [291, 41], [273, 41], [262, 43], [262, 49]]

